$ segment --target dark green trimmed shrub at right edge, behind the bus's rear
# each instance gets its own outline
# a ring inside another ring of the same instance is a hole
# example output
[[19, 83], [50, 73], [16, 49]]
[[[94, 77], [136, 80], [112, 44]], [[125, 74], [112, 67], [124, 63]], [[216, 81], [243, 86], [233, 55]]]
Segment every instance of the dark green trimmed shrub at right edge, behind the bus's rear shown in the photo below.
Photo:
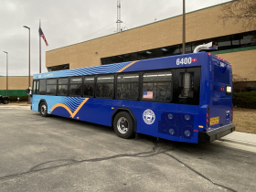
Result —
[[234, 92], [233, 105], [237, 107], [256, 109], [256, 91]]

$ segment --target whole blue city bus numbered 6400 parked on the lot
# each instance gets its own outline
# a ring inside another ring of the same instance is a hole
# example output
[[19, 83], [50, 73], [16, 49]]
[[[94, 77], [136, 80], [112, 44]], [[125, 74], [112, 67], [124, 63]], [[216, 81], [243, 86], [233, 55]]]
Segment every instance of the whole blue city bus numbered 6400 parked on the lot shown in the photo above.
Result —
[[235, 130], [232, 70], [208, 52], [35, 74], [31, 110], [166, 140], [212, 142]]

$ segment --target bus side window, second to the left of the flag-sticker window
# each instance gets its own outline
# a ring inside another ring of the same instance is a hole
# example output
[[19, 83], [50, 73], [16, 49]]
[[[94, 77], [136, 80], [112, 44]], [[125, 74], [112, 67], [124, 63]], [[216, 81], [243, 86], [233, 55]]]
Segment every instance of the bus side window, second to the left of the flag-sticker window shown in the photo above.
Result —
[[99, 75], [97, 77], [96, 97], [113, 98], [113, 75]]

